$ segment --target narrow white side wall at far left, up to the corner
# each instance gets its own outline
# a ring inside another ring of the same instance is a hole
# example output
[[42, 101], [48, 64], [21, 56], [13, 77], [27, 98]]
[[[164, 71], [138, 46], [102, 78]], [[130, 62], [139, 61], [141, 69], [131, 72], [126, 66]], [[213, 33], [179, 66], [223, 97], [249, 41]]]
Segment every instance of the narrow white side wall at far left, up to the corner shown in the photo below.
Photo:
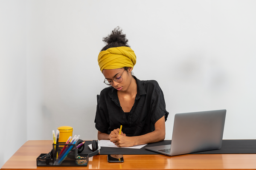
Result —
[[27, 140], [26, 7], [0, 1], [0, 167]]

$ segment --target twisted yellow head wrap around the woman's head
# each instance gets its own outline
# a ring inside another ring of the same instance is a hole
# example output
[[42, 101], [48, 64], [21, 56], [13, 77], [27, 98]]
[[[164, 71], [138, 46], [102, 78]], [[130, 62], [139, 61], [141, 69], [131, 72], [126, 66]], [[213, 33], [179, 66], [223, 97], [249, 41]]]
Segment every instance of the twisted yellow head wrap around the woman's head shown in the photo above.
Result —
[[130, 47], [108, 48], [99, 53], [98, 62], [101, 72], [103, 69], [133, 68], [136, 64], [136, 55]]

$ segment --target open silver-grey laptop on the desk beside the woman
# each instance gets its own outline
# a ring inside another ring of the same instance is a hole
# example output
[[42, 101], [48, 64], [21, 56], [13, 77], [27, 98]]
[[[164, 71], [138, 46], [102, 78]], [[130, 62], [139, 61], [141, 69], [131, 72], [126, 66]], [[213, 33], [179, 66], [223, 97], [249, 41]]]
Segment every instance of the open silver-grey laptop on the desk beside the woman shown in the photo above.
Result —
[[168, 156], [220, 149], [226, 110], [177, 113], [172, 144], [145, 147]]

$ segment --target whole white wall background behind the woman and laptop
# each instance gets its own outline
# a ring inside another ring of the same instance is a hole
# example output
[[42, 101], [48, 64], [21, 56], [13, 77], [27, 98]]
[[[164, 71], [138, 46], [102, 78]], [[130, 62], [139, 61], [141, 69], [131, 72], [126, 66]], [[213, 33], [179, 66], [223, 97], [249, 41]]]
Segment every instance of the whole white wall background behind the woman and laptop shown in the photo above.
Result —
[[[166, 139], [172, 138], [175, 113], [215, 109], [227, 109], [224, 139], [256, 138], [256, 1], [0, 2], [6, 23], [0, 27], [0, 55], [6, 56], [0, 62], [1, 100], [23, 94], [1, 106], [2, 128], [12, 129], [3, 113], [21, 107], [26, 140], [51, 139], [62, 125], [81, 139], [96, 139], [96, 94], [105, 88], [97, 56], [102, 37], [120, 26], [137, 55], [135, 76], [157, 80], [165, 94]], [[12, 23], [19, 29], [10, 30]]]

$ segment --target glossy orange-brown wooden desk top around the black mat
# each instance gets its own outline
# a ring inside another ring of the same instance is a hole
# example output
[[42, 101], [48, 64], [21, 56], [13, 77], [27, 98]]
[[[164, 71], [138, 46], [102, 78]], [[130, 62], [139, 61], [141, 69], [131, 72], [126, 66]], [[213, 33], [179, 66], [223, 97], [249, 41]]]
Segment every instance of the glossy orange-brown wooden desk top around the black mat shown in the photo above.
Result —
[[37, 167], [36, 158], [52, 149], [52, 140], [28, 141], [3, 165], [1, 170], [147, 170], [147, 169], [256, 169], [256, 154], [124, 155], [123, 163], [109, 163], [107, 155], [93, 156], [87, 167]]

